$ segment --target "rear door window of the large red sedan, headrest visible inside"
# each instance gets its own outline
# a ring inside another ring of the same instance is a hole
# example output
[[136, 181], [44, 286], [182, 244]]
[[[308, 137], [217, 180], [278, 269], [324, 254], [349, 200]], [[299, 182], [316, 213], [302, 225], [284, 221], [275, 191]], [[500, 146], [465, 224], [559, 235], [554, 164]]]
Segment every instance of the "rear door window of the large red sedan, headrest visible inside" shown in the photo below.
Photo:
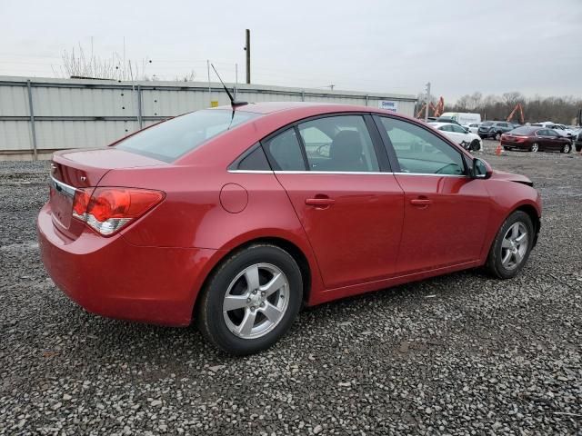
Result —
[[326, 116], [297, 127], [311, 171], [380, 171], [374, 144], [362, 116]]

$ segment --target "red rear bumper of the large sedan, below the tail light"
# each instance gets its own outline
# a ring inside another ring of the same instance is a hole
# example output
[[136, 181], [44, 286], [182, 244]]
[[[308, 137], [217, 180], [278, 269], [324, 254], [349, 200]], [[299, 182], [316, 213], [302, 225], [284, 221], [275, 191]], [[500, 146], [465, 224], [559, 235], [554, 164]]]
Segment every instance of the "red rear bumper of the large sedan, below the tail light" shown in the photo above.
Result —
[[50, 206], [38, 215], [45, 269], [74, 302], [110, 318], [188, 325], [216, 250], [142, 247], [86, 229], [75, 241], [55, 229]]

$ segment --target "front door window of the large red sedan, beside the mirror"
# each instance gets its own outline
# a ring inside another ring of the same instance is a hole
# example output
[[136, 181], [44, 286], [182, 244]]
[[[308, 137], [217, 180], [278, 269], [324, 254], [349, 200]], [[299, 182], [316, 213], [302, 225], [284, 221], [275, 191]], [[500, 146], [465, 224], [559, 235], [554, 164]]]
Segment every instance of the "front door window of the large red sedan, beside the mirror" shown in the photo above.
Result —
[[401, 173], [464, 175], [463, 156], [436, 134], [412, 123], [380, 117]]

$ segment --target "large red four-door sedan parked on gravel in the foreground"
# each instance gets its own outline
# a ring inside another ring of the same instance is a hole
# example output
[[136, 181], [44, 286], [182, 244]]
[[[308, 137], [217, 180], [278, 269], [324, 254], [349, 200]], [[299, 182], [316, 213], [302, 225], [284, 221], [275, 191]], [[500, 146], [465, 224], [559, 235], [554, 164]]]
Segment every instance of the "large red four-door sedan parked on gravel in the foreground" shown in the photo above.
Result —
[[314, 305], [487, 266], [537, 242], [527, 177], [369, 107], [247, 104], [56, 153], [38, 216], [45, 268], [89, 312], [266, 349]]

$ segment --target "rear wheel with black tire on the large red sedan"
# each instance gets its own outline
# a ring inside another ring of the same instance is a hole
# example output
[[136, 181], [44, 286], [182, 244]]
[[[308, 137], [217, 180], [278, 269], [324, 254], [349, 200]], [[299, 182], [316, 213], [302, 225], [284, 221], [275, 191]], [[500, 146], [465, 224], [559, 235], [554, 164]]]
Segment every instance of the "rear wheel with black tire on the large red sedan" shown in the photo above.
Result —
[[295, 259], [276, 245], [255, 244], [231, 254], [212, 273], [196, 319], [202, 335], [220, 350], [253, 354], [289, 330], [302, 299]]

